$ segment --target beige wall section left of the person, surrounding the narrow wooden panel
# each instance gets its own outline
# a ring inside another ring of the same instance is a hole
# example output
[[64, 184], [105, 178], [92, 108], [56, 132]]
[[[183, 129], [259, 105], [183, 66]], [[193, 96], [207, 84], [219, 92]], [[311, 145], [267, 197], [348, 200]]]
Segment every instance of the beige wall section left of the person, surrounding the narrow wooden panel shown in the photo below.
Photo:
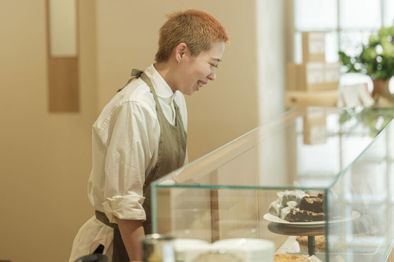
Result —
[[80, 1], [81, 111], [49, 114], [45, 1], [0, 1], [0, 260], [66, 261], [93, 212], [93, 3]]

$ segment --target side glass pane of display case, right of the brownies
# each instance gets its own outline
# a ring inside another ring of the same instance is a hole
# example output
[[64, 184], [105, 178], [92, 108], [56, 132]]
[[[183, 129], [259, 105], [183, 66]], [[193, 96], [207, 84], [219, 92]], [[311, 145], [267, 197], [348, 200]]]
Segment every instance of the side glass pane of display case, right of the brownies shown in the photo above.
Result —
[[329, 227], [330, 256], [347, 253], [345, 261], [385, 261], [394, 240], [388, 220], [392, 212], [387, 204], [388, 178], [385, 160], [373, 161], [362, 155], [329, 190], [331, 220], [358, 216]]

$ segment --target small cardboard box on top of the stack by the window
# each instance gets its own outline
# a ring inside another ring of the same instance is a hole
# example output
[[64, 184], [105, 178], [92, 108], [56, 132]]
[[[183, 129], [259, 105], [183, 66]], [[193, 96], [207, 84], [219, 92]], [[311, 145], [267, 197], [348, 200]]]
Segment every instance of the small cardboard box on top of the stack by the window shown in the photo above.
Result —
[[325, 62], [325, 32], [302, 32], [303, 62]]

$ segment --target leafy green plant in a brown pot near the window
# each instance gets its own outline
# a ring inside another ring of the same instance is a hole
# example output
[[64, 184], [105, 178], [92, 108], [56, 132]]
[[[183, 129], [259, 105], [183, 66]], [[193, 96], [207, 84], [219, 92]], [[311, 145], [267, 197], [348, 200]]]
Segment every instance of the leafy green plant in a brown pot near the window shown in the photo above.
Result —
[[388, 90], [388, 82], [394, 75], [394, 26], [382, 27], [378, 34], [370, 35], [359, 55], [351, 57], [340, 51], [339, 58], [347, 67], [346, 73], [363, 73], [371, 77], [373, 98], [383, 96], [394, 101]]

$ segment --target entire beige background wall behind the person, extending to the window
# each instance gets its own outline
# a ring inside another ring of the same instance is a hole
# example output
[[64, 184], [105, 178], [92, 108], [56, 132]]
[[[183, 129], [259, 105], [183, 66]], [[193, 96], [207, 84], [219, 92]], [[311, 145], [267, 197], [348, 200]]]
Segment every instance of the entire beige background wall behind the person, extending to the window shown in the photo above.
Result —
[[0, 260], [67, 261], [93, 215], [91, 125], [154, 62], [166, 13], [205, 10], [226, 27], [217, 79], [188, 105], [189, 159], [284, 110], [284, 0], [78, 0], [80, 111], [49, 113], [45, 0], [0, 0]]

